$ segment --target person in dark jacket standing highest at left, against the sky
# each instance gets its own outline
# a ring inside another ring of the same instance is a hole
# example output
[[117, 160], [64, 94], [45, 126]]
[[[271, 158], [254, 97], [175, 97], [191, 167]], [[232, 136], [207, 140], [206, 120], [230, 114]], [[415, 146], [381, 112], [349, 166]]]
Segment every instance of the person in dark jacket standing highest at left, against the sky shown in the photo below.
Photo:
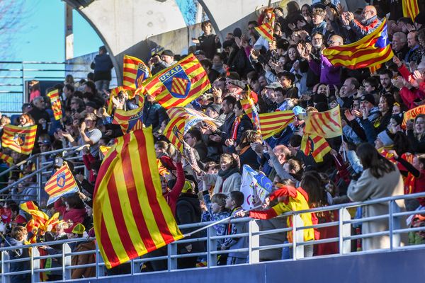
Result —
[[113, 64], [111, 57], [109, 57], [106, 47], [99, 47], [99, 54], [94, 57], [91, 63], [91, 69], [94, 69], [94, 83], [98, 91], [109, 89], [109, 83], [111, 83], [111, 69]]

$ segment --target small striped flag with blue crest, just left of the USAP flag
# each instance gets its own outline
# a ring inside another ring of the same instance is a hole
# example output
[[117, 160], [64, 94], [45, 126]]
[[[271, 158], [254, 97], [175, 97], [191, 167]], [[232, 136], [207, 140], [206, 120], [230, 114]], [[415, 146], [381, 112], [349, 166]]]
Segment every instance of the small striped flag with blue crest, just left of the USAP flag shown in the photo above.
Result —
[[136, 89], [142, 82], [151, 76], [149, 67], [145, 62], [136, 57], [124, 55], [123, 86]]

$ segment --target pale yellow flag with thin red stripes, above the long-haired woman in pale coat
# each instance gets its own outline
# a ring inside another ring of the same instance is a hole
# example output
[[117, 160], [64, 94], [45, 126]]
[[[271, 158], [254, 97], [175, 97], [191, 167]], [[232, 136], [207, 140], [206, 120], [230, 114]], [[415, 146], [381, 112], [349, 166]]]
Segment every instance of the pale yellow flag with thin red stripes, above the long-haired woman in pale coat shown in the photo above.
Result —
[[339, 105], [329, 111], [310, 112], [305, 120], [304, 132], [330, 139], [342, 135]]

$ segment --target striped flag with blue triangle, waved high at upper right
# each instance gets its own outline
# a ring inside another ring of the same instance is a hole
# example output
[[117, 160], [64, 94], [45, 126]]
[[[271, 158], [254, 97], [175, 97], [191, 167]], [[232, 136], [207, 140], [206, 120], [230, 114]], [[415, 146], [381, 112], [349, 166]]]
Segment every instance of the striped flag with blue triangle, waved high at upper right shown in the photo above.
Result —
[[394, 56], [388, 39], [387, 20], [361, 40], [349, 45], [328, 47], [323, 50], [323, 55], [332, 65], [348, 69], [374, 67], [387, 62]]

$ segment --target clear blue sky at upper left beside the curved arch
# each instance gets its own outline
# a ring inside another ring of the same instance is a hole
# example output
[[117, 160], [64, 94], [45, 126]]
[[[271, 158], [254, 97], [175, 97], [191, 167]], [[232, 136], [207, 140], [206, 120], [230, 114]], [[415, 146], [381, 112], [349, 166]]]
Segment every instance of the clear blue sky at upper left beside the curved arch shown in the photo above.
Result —
[[[64, 2], [25, 0], [30, 16], [13, 37], [13, 61], [64, 62]], [[28, 6], [27, 6], [28, 5]], [[98, 51], [103, 45], [89, 23], [73, 11], [74, 57]]]

